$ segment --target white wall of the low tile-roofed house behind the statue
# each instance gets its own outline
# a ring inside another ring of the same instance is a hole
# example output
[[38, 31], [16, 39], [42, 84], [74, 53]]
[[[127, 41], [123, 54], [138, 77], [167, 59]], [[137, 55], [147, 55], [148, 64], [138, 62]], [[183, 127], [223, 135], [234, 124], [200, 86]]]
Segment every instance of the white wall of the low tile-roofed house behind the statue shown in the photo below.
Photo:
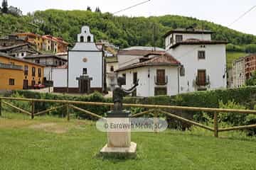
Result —
[[137, 96], [154, 96], [156, 69], [165, 69], [165, 74], [168, 77], [168, 84], [166, 84], [167, 95], [173, 96], [178, 94], [178, 67], [174, 66], [151, 66], [139, 67], [137, 69], [129, 69], [126, 71], [118, 72], [118, 77], [126, 74], [126, 85], [122, 86], [124, 89], [131, 88], [133, 84], [133, 73], [137, 72], [137, 79], [139, 79], [139, 86], [137, 86]]

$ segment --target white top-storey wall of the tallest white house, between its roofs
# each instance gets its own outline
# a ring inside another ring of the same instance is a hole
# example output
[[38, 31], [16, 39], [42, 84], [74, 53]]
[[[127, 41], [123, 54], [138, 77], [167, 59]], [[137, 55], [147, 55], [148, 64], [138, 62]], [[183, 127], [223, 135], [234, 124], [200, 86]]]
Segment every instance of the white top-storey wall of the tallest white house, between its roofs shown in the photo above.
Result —
[[[174, 45], [176, 43], [176, 35], [182, 35], [183, 36], [183, 40], [187, 40], [187, 39], [198, 39], [198, 40], [211, 40], [211, 35], [210, 34], [191, 34], [191, 33], [174, 33], [174, 34], [170, 34], [166, 37], [165, 39], [165, 44], [166, 44], [166, 50], [169, 50], [169, 47], [171, 47], [171, 45]], [[173, 43], [171, 43], [171, 37], [173, 36]]]

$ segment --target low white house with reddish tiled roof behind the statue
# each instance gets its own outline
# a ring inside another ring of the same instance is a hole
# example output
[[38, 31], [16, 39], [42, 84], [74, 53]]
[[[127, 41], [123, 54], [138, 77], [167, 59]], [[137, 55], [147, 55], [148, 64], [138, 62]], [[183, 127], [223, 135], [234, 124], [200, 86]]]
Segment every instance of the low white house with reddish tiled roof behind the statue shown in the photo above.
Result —
[[126, 77], [124, 89], [131, 88], [139, 79], [133, 96], [159, 96], [178, 94], [178, 67], [180, 63], [168, 53], [146, 55], [139, 62], [117, 69], [118, 77]]

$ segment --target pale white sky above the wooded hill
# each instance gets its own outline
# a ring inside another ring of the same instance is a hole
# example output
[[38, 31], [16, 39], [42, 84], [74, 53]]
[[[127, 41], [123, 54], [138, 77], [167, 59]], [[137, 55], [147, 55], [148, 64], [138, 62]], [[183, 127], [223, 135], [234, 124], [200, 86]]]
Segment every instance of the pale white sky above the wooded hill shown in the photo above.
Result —
[[[123, 8], [138, 4], [145, 0], [8, 0], [9, 5], [21, 8], [23, 14], [48, 8], [63, 10], [86, 10], [90, 6], [93, 11], [97, 6], [102, 12], [114, 13]], [[256, 0], [151, 0], [127, 11], [117, 13], [118, 16], [163, 16], [166, 14], [190, 16], [201, 20], [229, 26], [245, 11], [256, 5]], [[229, 28], [256, 35], [256, 8], [240, 18]]]

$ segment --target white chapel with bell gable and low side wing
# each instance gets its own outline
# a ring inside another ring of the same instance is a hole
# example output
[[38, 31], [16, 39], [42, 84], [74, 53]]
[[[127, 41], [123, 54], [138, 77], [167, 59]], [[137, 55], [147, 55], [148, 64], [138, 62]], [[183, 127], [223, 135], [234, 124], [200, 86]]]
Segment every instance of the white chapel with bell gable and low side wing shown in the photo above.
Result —
[[[104, 60], [102, 46], [97, 47], [88, 26], [83, 26], [78, 34], [78, 42], [68, 51], [68, 71], [53, 69], [53, 86], [56, 92], [88, 94], [92, 91], [104, 91]], [[65, 77], [67, 81], [59, 81]], [[67, 86], [68, 82], [68, 86]], [[68, 90], [67, 90], [68, 89]]]

